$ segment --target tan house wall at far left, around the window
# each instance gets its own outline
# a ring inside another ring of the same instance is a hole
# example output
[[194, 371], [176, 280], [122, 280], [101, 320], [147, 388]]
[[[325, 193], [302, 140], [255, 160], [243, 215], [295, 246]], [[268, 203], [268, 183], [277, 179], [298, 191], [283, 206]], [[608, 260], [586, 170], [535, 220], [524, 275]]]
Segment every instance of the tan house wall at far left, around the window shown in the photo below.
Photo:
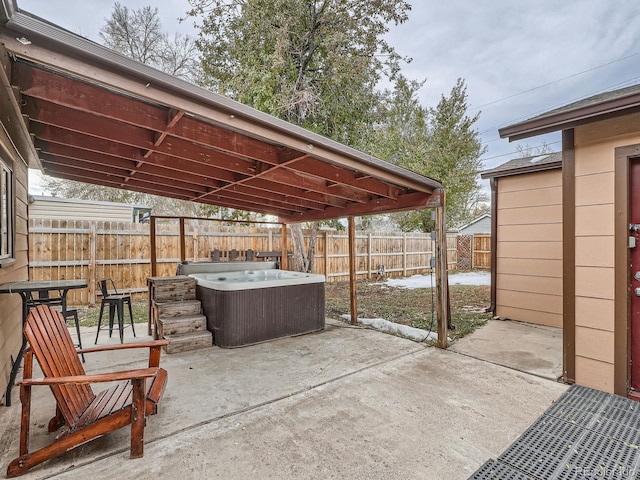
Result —
[[[2, 145], [0, 145], [2, 152]], [[3, 153], [7, 155], [7, 153]], [[16, 261], [0, 268], [0, 283], [26, 280], [28, 276], [27, 252], [27, 167], [21, 160], [13, 162], [16, 208]], [[11, 359], [16, 358], [22, 342], [22, 303], [20, 296], [0, 295], [0, 396], [4, 392], [11, 372]], [[15, 392], [15, 390], [14, 390]], [[4, 400], [4, 398], [3, 398]], [[14, 402], [16, 397], [14, 397]]]

